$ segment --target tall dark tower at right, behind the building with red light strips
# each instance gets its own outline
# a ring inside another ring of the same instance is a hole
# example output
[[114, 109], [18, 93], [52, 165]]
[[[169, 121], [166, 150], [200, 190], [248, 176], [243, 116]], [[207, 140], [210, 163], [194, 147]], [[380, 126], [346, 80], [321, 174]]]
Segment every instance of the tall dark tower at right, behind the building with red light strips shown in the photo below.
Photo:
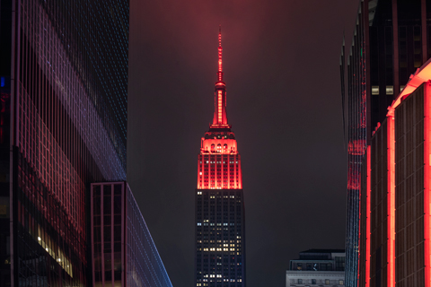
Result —
[[359, 222], [365, 220], [360, 218], [365, 148], [374, 127], [386, 118], [394, 96], [409, 81], [409, 74], [431, 57], [429, 19], [431, 3], [427, 0], [360, 1], [348, 53], [343, 44], [340, 68], [342, 95], [347, 91], [348, 138], [347, 286], [356, 286], [358, 279]]

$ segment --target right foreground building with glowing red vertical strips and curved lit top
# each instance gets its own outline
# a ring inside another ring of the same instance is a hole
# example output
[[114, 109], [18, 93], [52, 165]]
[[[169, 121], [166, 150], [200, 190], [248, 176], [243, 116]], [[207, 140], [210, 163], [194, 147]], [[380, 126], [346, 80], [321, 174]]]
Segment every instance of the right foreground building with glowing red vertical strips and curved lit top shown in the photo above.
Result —
[[393, 100], [366, 148], [359, 286], [431, 286], [430, 154], [428, 60]]

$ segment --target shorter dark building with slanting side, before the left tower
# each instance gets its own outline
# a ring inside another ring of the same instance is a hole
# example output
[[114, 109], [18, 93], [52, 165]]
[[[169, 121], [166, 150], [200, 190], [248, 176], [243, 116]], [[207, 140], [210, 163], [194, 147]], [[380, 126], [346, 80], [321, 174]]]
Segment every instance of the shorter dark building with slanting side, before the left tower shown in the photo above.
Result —
[[172, 287], [127, 182], [92, 184], [92, 286]]

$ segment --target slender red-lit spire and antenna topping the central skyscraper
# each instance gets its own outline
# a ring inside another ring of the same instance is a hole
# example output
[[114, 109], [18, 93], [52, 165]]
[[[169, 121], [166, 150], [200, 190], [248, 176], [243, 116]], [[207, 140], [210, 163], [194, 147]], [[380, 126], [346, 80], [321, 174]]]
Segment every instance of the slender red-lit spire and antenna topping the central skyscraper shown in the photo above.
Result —
[[214, 101], [214, 117], [211, 127], [227, 127], [226, 115], [226, 84], [223, 82], [222, 66], [222, 26], [218, 30], [218, 72]]

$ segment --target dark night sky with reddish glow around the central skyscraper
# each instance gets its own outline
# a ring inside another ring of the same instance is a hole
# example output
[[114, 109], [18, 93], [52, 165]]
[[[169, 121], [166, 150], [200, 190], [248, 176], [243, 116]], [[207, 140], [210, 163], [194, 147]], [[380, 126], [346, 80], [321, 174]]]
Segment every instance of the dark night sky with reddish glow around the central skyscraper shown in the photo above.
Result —
[[128, 182], [174, 287], [194, 286], [200, 138], [222, 25], [227, 116], [242, 156], [248, 287], [344, 248], [347, 147], [339, 55], [358, 0], [131, 0]]

